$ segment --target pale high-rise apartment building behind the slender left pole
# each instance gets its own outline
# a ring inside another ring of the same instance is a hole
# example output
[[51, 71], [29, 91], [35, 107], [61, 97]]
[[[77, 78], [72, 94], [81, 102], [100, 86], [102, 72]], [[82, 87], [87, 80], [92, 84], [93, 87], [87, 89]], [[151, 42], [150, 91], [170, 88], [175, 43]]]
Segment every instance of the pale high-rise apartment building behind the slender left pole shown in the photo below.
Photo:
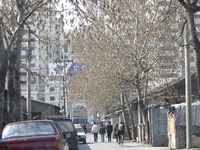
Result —
[[[38, 16], [44, 16], [42, 20]], [[28, 58], [31, 64], [31, 98], [46, 100], [46, 88], [49, 76], [49, 62], [56, 61], [59, 56], [60, 37], [62, 31], [62, 15], [56, 12], [37, 12], [29, 19], [31, 29], [24, 34], [21, 49], [21, 94], [28, 97]], [[54, 57], [56, 56], [56, 57]]]

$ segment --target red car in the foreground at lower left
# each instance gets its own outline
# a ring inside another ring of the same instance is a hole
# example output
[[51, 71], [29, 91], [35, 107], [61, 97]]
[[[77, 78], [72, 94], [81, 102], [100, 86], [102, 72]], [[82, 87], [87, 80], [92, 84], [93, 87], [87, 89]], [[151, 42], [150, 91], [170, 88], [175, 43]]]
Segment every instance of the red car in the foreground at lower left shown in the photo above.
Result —
[[31, 120], [6, 125], [0, 150], [69, 150], [69, 147], [53, 121]]

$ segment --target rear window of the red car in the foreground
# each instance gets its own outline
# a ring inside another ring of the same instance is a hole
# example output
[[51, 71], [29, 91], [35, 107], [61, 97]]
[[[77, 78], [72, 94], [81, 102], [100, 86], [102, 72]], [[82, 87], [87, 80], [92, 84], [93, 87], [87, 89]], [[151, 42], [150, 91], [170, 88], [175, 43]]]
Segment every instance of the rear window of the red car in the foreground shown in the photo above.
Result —
[[25, 136], [38, 136], [55, 134], [55, 130], [49, 122], [26, 122], [10, 124], [2, 133], [2, 139]]

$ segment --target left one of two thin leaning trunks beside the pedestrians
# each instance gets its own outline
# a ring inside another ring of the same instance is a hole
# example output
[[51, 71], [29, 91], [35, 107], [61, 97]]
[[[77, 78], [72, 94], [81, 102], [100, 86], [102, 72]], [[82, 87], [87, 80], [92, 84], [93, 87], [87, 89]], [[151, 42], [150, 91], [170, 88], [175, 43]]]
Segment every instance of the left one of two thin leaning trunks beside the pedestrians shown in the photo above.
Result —
[[121, 106], [122, 106], [122, 116], [124, 119], [124, 126], [125, 126], [125, 131], [127, 133], [128, 139], [131, 140], [131, 132], [129, 130], [126, 114], [125, 114], [125, 106], [124, 106], [124, 95], [121, 93]]

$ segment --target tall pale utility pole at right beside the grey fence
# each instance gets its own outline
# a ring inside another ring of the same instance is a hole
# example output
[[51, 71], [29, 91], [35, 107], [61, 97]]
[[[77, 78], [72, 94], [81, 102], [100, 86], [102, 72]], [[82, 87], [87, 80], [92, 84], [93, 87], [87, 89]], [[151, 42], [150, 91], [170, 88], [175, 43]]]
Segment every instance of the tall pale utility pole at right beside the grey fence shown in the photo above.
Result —
[[185, 24], [185, 100], [186, 100], [186, 149], [192, 149], [191, 76], [188, 23]]

